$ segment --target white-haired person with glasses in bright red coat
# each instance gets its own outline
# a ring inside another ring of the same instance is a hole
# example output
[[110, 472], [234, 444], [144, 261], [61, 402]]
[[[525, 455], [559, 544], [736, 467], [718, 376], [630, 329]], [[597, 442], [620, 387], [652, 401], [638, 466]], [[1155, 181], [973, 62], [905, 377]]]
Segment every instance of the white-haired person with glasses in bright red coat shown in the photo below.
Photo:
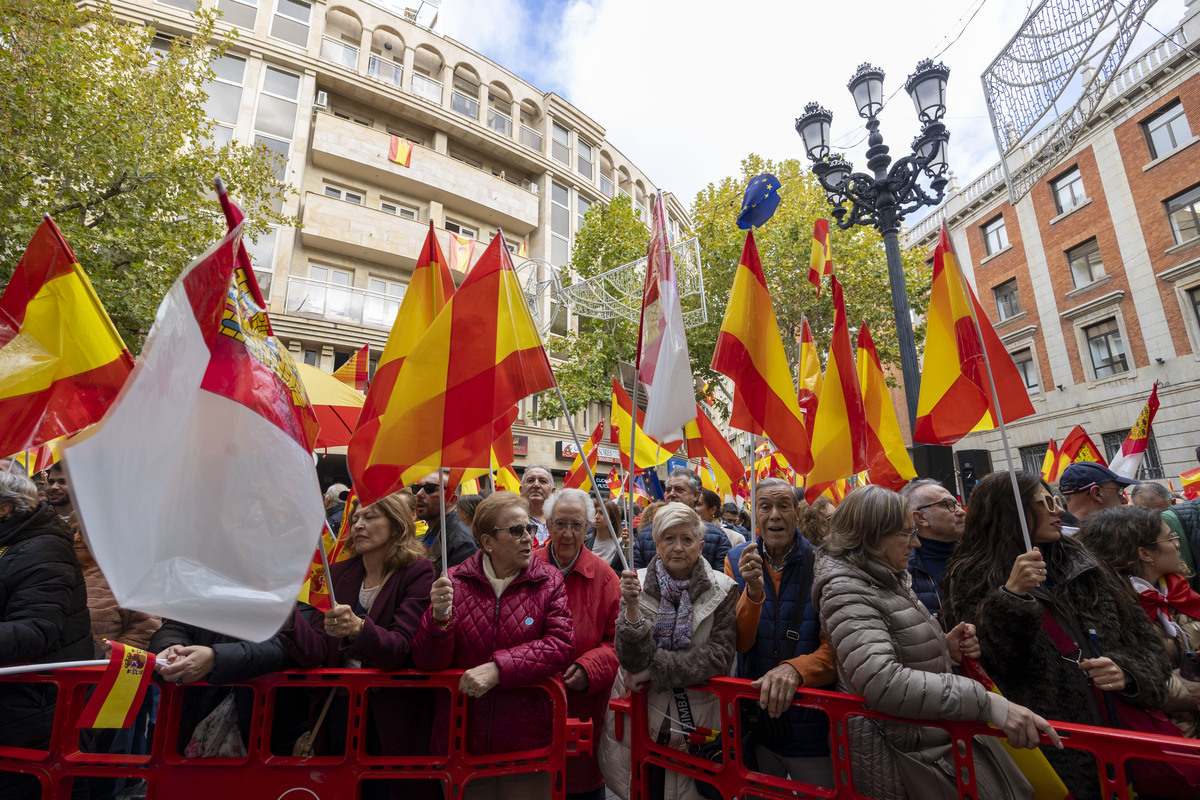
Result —
[[[566, 603], [575, 622], [575, 649], [563, 673], [566, 710], [577, 720], [592, 720], [592, 730], [604, 729], [608, 693], [617, 678], [617, 612], [620, 585], [617, 573], [583, 546], [588, 525], [595, 518], [587, 492], [559, 489], [546, 500], [550, 545], [533, 557], [550, 564], [566, 581]], [[595, 753], [566, 762], [566, 799], [604, 800], [604, 776]]]

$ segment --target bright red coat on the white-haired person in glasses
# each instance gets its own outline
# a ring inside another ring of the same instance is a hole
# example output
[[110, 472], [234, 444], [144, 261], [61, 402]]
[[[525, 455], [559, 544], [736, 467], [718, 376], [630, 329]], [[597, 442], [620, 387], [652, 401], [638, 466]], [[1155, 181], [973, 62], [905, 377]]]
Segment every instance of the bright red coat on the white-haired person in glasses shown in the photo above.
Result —
[[[550, 546], [534, 551], [534, 558], [550, 564]], [[586, 547], [566, 575], [566, 604], [575, 624], [571, 663], [578, 663], [588, 674], [588, 691], [566, 690], [566, 711], [576, 720], [592, 720], [594, 741], [600, 741], [608, 693], [617, 678], [613, 639], [620, 609], [620, 583], [612, 567]], [[566, 762], [568, 793], [592, 792], [602, 786], [604, 776], [595, 753]]]

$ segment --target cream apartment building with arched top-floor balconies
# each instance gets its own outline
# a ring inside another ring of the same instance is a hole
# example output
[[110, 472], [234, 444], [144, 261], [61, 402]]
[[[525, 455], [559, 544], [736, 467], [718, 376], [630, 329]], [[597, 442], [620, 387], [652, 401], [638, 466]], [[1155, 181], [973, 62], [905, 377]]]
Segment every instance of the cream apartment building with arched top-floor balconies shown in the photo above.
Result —
[[[280, 178], [296, 190], [283, 211], [300, 225], [252, 248], [275, 331], [296, 361], [332, 371], [370, 344], [373, 371], [430, 221], [461, 282], [500, 230], [518, 271], [545, 272], [566, 266], [593, 204], [625, 194], [649, 218], [659, 187], [599, 121], [439, 35], [420, 8], [200, 2], [222, 12], [222, 34], [236, 32], [209, 86], [216, 139], [282, 154]], [[198, 1], [113, 5], [169, 37], [191, 30]], [[397, 163], [406, 149], [407, 166]], [[686, 210], [671, 194], [666, 207], [679, 239], [690, 228]], [[542, 312], [554, 332], [575, 321], [565, 309]], [[517, 464], [563, 470], [574, 457], [565, 420], [530, 420], [533, 402], [522, 403], [514, 426]], [[581, 437], [607, 413], [601, 405], [576, 415]]]

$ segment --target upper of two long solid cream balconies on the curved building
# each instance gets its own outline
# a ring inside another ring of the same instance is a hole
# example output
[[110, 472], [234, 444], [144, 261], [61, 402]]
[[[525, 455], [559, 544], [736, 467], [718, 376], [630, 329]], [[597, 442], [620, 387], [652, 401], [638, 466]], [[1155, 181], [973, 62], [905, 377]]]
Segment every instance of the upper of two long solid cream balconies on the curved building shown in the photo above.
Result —
[[538, 227], [538, 196], [533, 192], [422, 146], [414, 150], [412, 166], [401, 167], [388, 161], [389, 144], [383, 131], [318, 113], [312, 161], [348, 178], [436, 200], [512, 234], [524, 235]]

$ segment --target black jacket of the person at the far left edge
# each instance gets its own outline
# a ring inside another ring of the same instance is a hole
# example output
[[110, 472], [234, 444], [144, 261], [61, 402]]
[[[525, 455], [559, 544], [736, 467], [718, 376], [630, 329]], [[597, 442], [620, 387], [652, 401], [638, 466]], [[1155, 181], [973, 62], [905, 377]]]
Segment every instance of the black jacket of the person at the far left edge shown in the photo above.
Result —
[[[0, 519], [0, 667], [96, 656], [88, 589], [72, 535], [40, 504]], [[44, 746], [54, 720], [48, 684], [0, 685], [0, 744]]]

